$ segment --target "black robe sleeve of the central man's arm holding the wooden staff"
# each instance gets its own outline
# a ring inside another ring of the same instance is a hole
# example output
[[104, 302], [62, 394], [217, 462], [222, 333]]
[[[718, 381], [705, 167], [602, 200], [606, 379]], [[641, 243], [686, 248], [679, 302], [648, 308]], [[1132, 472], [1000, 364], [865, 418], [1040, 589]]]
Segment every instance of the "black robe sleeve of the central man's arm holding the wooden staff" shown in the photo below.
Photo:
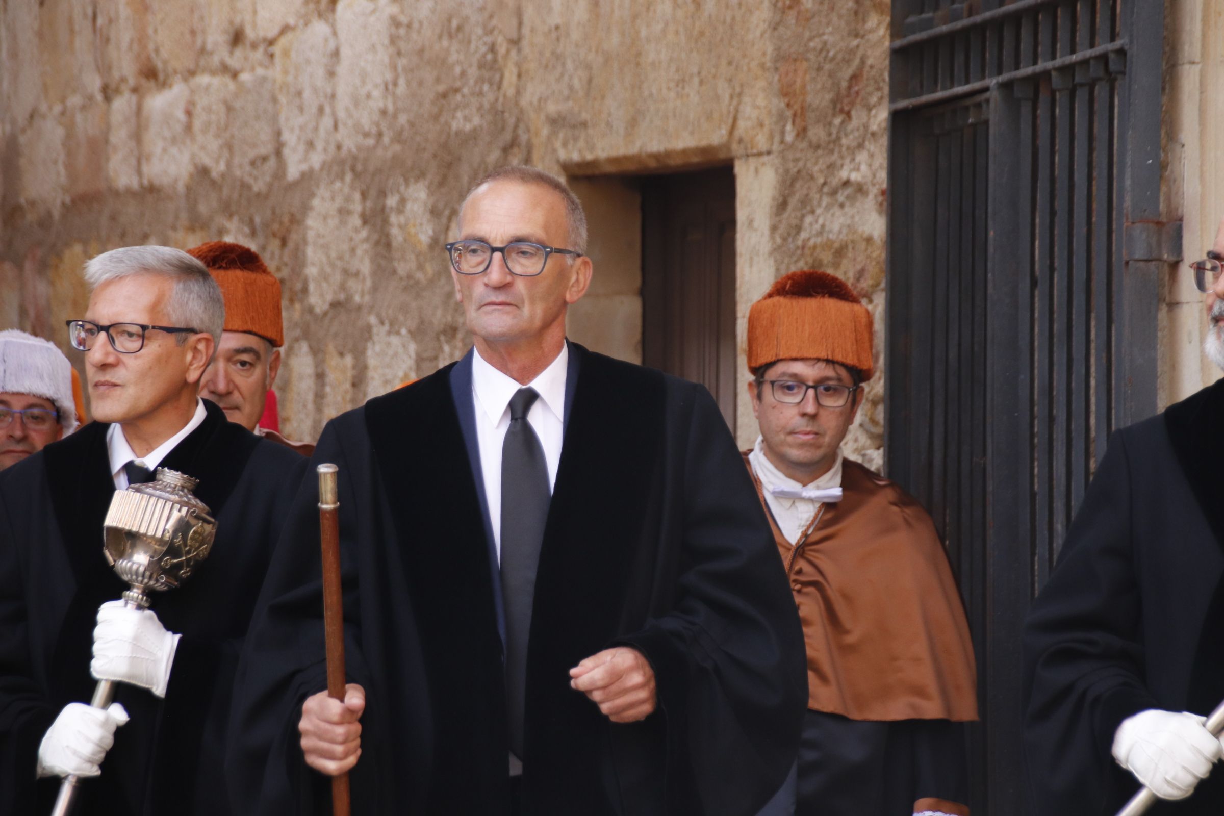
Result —
[[[297, 722], [306, 697], [327, 689], [318, 482], [315, 465], [340, 467], [340, 505], [357, 506], [353, 472], [334, 422], [328, 423], [288, 513], [239, 661], [226, 751], [226, 778], [236, 814], [330, 812], [327, 778], [302, 757]], [[364, 683], [356, 568], [349, 558], [353, 514], [340, 514], [345, 667]], [[367, 700], [368, 700], [368, 684]], [[367, 705], [368, 708], [368, 705]]]

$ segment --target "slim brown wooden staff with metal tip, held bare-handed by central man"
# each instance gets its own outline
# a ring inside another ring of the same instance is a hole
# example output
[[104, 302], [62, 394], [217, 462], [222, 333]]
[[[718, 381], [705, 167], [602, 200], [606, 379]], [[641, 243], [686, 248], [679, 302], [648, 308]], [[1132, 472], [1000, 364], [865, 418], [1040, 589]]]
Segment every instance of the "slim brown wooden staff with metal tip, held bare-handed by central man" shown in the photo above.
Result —
[[[340, 489], [335, 465], [319, 465], [318, 526], [323, 548], [323, 636], [327, 694], [344, 702], [344, 596], [340, 591]], [[332, 777], [332, 815], [349, 816], [349, 772]]]

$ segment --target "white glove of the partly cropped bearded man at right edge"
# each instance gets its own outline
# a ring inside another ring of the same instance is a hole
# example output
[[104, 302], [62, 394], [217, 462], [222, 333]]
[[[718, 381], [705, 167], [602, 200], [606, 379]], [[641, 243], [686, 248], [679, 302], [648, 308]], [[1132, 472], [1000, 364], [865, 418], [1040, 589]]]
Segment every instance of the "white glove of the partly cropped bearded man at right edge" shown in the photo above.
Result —
[[1220, 759], [1220, 741], [1206, 717], [1149, 708], [1114, 733], [1114, 759], [1160, 799], [1185, 799]]

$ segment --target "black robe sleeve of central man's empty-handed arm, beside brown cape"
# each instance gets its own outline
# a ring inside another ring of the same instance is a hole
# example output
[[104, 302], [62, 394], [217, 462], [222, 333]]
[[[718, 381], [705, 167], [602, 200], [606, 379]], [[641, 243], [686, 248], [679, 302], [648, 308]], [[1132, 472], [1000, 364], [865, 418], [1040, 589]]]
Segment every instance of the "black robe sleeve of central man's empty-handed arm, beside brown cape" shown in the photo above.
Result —
[[676, 599], [667, 614], [617, 642], [640, 651], [655, 672], [673, 763], [668, 778], [694, 785], [700, 812], [755, 812], [798, 751], [807, 707], [803, 632], [726, 422], [704, 388], [685, 396], [692, 409], [678, 426], [688, 433]]

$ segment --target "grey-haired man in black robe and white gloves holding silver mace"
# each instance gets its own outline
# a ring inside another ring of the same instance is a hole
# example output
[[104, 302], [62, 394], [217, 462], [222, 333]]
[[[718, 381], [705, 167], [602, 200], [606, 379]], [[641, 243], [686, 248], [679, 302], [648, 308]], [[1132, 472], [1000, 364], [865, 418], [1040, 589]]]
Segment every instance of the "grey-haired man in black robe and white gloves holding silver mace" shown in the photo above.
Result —
[[[196, 395], [224, 319], [198, 261], [127, 247], [86, 278], [70, 335], [97, 421], [0, 473], [0, 814], [50, 812], [75, 773], [97, 777], [80, 816], [224, 815], [239, 646], [306, 462]], [[115, 489], [157, 467], [200, 481], [218, 532], [181, 588], [127, 609], [103, 521]], [[86, 705], [99, 678], [119, 681], [109, 711]]]

